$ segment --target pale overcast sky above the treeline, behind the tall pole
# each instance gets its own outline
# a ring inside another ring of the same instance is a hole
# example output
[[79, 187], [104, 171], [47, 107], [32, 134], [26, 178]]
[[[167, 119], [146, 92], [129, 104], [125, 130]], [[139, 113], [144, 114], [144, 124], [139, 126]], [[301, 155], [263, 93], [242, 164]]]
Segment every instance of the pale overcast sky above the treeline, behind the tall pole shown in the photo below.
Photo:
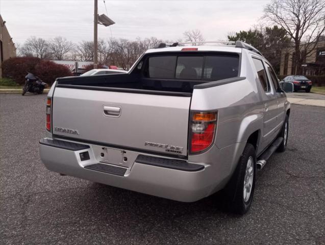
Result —
[[[63, 36], [73, 42], [93, 39], [93, 0], [0, 0], [0, 14], [14, 42], [28, 37]], [[108, 16], [116, 23], [98, 26], [98, 38], [157, 37], [174, 41], [191, 29], [206, 40], [226, 40], [246, 30], [263, 15], [270, 1], [108, 1]], [[106, 14], [103, 0], [98, 13]]]

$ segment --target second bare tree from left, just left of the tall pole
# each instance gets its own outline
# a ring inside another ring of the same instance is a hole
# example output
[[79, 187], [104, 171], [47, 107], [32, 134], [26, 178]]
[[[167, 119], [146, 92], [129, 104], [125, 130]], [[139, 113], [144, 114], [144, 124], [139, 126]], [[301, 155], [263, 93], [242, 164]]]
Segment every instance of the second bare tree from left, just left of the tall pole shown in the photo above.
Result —
[[73, 43], [65, 37], [55, 37], [48, 42], [48, 48], [54, 59], [63, 60], [72, 50]]

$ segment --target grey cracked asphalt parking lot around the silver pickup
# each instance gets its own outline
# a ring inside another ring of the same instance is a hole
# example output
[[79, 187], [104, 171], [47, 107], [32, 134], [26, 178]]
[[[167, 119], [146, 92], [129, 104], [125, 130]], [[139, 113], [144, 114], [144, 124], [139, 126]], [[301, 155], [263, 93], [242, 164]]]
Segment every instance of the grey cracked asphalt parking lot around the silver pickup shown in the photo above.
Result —
[[325, 107], [292, 105], [287, 151], [237, 216], [48, 171], [45, 100], [0, 94], [0, 244], [325, 244]]

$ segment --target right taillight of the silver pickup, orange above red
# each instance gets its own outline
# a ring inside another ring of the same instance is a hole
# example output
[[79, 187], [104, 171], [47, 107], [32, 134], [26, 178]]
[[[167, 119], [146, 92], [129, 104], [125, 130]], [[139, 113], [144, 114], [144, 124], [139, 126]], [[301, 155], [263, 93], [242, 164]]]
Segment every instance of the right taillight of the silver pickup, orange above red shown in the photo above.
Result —
[[190, 120], [190, 153], [207, 150], [213, 143], [217, 112], [192, 112]]

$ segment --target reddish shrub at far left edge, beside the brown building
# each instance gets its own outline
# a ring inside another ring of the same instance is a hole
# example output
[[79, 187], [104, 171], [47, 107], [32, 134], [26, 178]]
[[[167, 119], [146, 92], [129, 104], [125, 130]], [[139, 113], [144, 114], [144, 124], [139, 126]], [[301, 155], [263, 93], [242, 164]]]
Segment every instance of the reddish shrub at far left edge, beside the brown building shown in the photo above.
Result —
[[2, 76], [11, 78], [18, 84], [24, 84], [27, 72], [35, 74], [35, 66], [41, 62], [36, 57], [15, 57], [2, 63]]

